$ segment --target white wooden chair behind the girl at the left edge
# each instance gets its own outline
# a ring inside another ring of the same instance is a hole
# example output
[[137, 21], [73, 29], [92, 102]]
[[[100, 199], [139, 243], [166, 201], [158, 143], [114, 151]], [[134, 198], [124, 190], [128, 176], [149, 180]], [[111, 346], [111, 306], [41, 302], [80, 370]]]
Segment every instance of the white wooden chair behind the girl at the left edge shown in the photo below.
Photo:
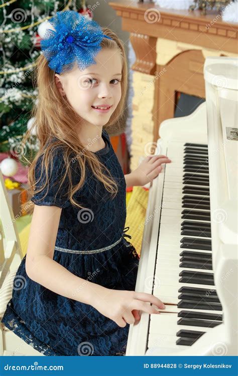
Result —
[[[0, 321], [12, 298], [13, 281], [24, 257], [16, 226], [16, 219], [9, 204], [8, 193], [0, 169]], [[4, 237], [5, 235], [5, 237]], [[0, 322], [0, 356], [32, 355], [40, 352], [27, 344]], [[44, 355], [43, 355], [44, 356]]]

